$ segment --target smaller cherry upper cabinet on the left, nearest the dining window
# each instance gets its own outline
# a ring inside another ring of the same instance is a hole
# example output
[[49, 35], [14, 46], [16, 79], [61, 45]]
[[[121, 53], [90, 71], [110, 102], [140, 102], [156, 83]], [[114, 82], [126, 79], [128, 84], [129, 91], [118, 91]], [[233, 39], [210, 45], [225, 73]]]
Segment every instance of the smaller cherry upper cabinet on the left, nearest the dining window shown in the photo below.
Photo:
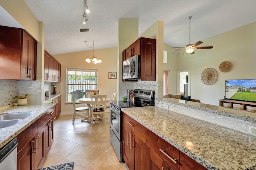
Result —
[[47, 51], [44, 51], [44, 81], [60, 82], [60, 71], [61, 64]]

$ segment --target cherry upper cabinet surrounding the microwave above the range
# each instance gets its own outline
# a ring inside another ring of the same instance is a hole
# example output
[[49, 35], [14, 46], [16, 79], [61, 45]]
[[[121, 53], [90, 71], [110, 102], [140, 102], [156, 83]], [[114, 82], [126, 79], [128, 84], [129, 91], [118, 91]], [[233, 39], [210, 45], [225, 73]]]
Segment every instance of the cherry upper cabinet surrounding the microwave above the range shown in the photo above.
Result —
[[[141, 37], [123, 51], [123, 61], [140, 55], [140, 79], [156, 80], [156, 39]], [[127, 81], [123, 79], [123, 81]]]

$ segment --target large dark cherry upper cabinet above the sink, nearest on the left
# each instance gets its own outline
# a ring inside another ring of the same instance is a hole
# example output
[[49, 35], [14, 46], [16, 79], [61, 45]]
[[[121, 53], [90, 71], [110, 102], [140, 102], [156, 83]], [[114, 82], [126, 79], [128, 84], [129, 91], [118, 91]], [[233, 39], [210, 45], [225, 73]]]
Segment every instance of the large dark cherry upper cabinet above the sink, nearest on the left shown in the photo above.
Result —
[[0, 26], [0, 79], [36, 80], [36, 47], [23, 29]]

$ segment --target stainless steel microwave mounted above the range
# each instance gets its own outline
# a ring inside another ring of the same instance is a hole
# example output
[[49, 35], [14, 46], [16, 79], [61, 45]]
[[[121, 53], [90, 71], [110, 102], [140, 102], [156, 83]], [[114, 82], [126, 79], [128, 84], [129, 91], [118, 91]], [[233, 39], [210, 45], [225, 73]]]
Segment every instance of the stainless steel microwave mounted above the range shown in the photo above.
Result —
[[140, 80], [140, 55], [123, 61], [123, 79]]

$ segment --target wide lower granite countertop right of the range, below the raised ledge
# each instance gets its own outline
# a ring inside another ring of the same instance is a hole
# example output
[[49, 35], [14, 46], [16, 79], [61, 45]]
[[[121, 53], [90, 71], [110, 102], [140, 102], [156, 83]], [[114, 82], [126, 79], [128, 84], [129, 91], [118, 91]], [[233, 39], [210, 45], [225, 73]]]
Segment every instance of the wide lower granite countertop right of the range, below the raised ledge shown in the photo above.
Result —
[[256, 169], [254, 136], [155, 106], [122, 111], [209, 170]]

